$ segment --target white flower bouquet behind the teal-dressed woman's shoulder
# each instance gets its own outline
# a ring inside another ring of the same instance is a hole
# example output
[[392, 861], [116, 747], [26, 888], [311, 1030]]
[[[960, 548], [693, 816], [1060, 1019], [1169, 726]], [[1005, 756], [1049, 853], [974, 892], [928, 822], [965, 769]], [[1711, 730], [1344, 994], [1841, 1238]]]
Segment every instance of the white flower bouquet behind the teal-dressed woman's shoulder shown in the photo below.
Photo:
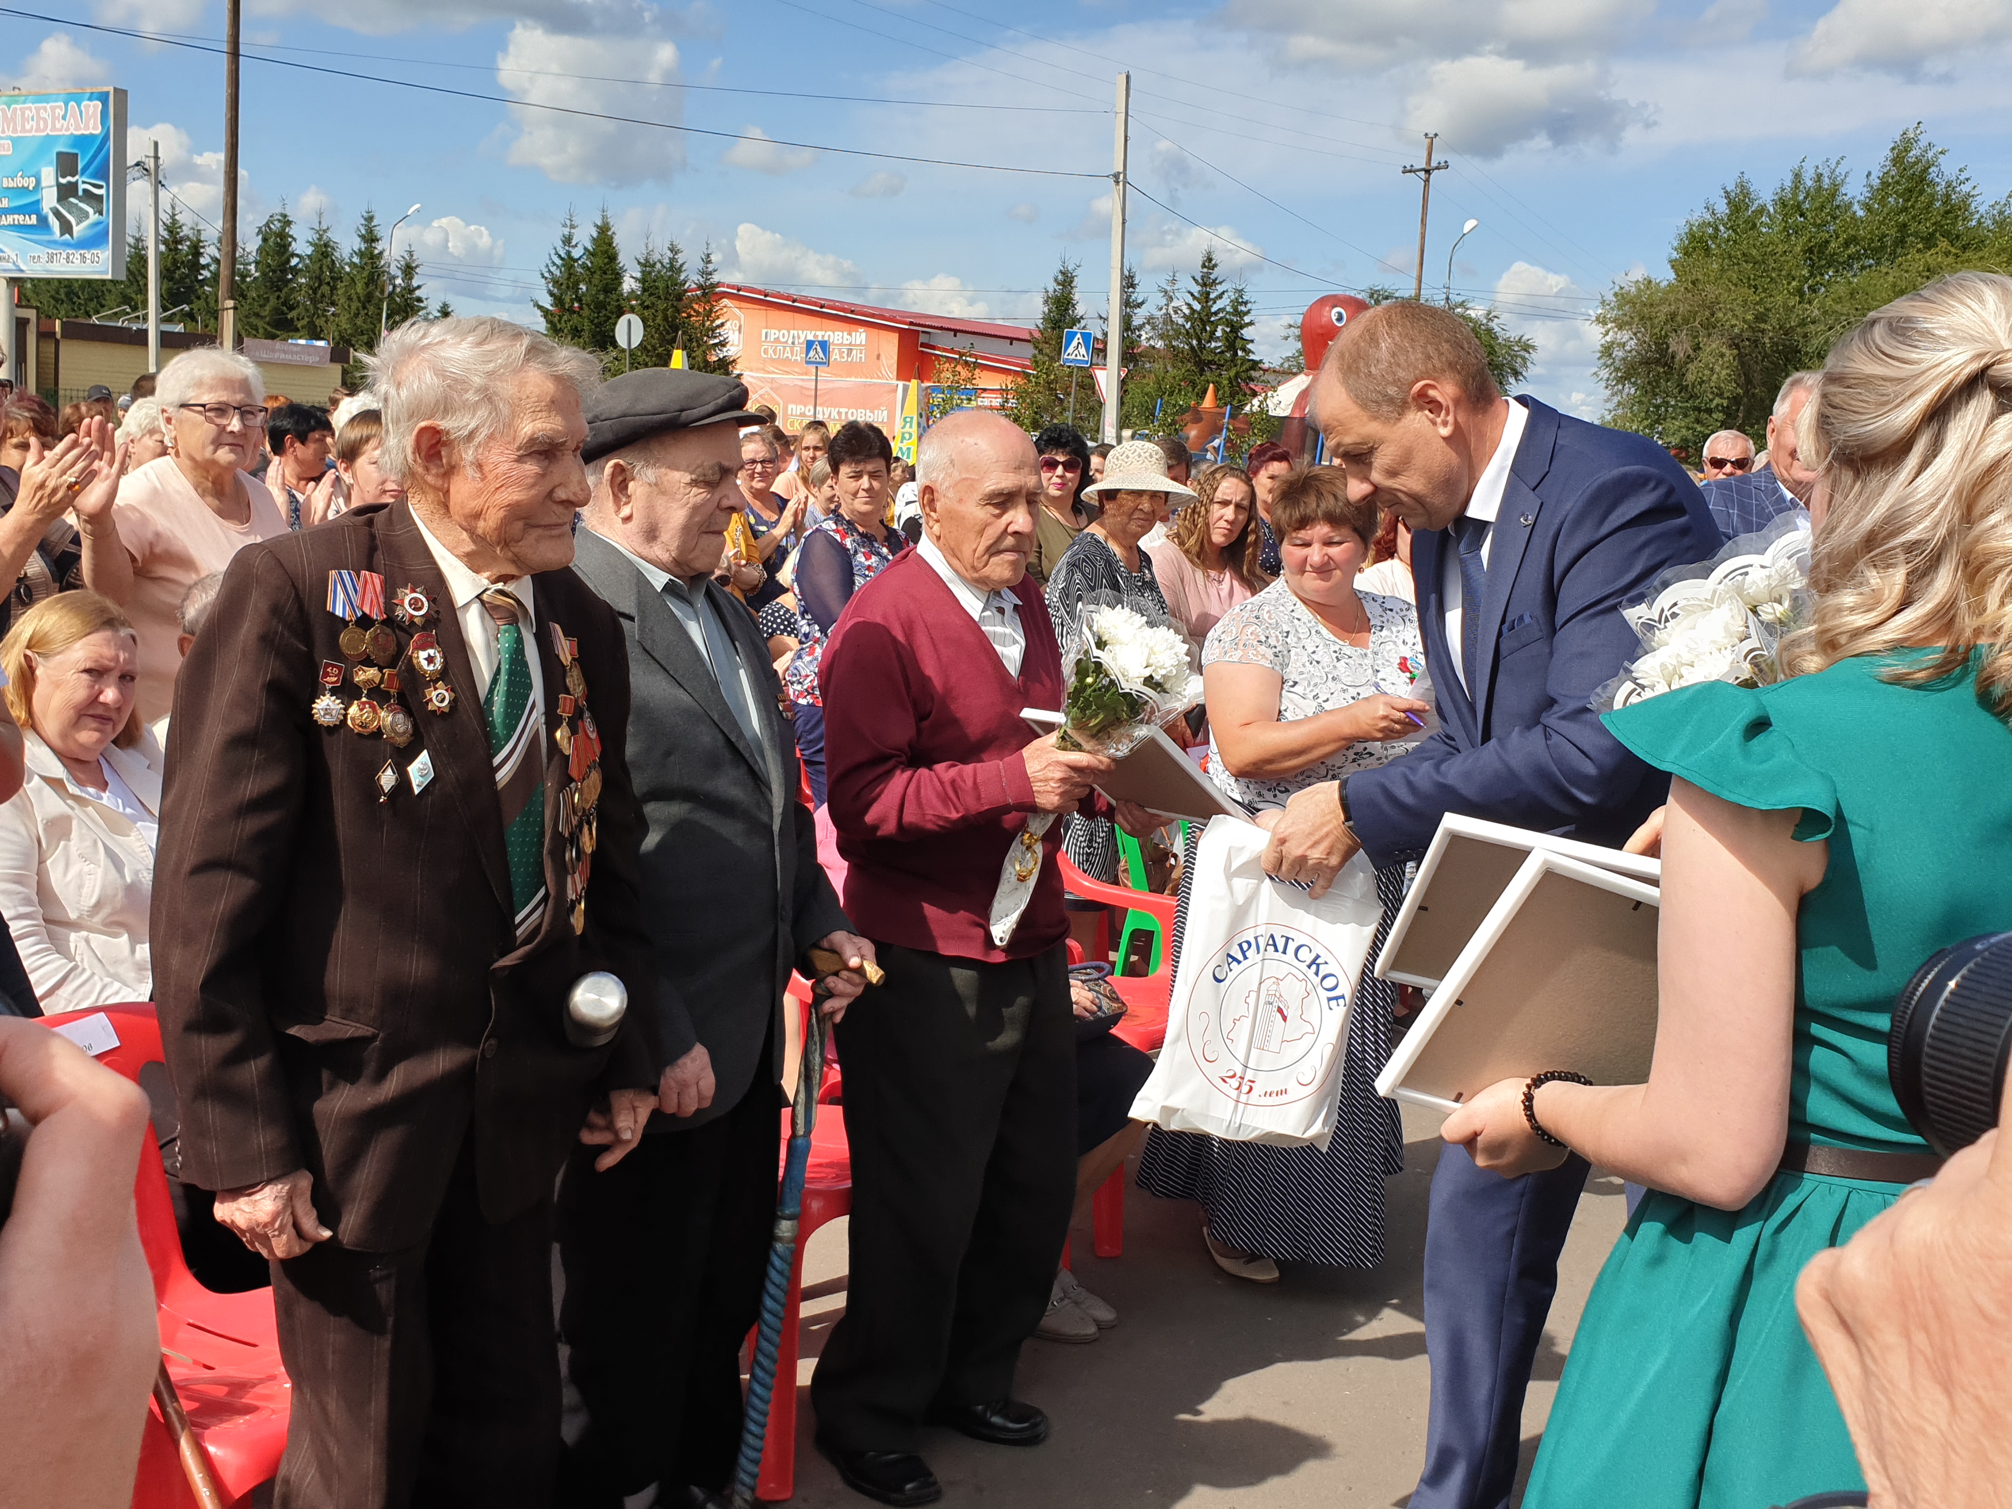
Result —
[[1644, 654], [1594, 692], [1602, 712], [1698, 682], [1781, 680], [1781, 640], [1809, 616], [1809, 515], [1781, 515], [1622, 608]]

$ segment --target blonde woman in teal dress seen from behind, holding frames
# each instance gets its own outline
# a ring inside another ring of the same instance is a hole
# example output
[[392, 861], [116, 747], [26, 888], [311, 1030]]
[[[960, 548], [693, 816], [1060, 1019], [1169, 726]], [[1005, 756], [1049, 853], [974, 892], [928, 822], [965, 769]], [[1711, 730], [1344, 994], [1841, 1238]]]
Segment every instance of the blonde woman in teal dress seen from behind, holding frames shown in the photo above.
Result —
[[1871, 314], [1831, 352], [1803, 455], [1823, 461], [1799, 674], [1608, 716], [1674, 777], [1648, 1084], [1545, 1082], [1525, 1113], [1531, 1080], [1503, 1080], [1445, 1127], [1505, 1175], [1569, 1147], [1650, 1187], [1525, 1509], [1863, 1489], [1795, 1280], [1932, 1167], [1887, 1084], [1895, 994], [2012, 928], [2012, 280]]

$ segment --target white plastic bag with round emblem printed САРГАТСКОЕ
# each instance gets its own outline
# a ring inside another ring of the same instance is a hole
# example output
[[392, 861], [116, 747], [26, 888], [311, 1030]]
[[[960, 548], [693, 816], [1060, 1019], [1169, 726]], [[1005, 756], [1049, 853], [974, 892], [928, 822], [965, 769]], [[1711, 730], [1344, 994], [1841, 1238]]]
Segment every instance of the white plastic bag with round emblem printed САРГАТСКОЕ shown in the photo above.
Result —
[[1348, 1012], [1382, 903], [1360, 853], [1318, 901], [1264, 873], [1266, 831], [1209, 819], [1173, 978], [1167, 1046], [1133, 1121], [1233, 1143], [1326, 1147]]

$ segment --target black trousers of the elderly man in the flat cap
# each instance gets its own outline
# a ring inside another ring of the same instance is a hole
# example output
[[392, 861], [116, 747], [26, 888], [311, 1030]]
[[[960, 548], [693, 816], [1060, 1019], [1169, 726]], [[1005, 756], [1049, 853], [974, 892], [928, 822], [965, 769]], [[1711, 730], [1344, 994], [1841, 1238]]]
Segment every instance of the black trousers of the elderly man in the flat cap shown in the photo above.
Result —
[[763, 1054], [754, 1084], [716, 1121], [652, 1131], [606, 1173], [594, 1147], [565, 1165], [559, 1330], [588, 1406], [559, 1467], [569, 1509], [618, 1509], [652, 1483], [668, 1503], [732, 1477], [740, 1342], [761, 1314], [783, 1129], [767, 1066]]

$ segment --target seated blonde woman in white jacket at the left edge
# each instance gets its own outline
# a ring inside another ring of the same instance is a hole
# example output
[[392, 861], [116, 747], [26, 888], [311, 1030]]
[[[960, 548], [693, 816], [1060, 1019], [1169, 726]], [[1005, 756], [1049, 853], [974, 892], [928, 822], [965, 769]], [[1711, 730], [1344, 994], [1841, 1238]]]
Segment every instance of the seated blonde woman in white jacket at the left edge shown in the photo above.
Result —
[[64, 592], [0, 640], [26, 781], [0, 805], [0, 913], [44, 1012], [147, 1000], [159, 750], [119, 606]]

